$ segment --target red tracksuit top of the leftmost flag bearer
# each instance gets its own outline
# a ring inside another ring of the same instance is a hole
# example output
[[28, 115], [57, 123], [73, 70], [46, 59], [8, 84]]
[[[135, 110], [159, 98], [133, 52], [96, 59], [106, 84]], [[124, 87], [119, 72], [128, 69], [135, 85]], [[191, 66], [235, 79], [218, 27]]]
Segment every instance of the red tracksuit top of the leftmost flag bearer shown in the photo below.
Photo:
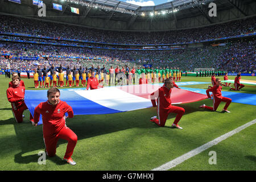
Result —
[[22, 98], [25, 96], [25, 88], [24, 86], [17, 86], [17, 87], [9, 87], [6, 90], [7, 99], [9, 102], [11, 102], [11, 106], [13, 109], [19, 109], [24, 104], [24, 101], [22, 101]]

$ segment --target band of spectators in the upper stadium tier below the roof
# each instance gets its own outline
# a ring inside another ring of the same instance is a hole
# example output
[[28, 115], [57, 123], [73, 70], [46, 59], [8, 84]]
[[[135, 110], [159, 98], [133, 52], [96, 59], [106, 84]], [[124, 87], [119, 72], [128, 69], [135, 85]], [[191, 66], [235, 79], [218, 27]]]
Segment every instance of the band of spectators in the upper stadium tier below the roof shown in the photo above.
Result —
[[161, 32], [106, 31], [68, 24], [43, 22], [35, 19], [0, 16], [0, 31], [19, 32], [36, 36], [60, 39], [79, 39], [98, 43], [114, 44], [172, 44], [196, 42], [255, 31], [255, 18], [235, 20], [203, 28]]

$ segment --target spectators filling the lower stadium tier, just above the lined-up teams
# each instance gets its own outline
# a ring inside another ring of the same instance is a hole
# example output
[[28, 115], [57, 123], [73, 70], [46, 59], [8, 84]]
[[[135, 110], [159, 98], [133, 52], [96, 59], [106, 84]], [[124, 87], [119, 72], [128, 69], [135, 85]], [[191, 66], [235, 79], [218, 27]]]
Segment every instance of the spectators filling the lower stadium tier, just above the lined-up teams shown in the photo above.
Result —
[[[226, 46], [208, 46], [187, 48], [172, 51], [108, 51], [105, 49], [85, 49], [62, 46], [46, 46], [38, 44], [0, 43], [0, 53], [9, 53], [9, 59], [2, 57], [1, 68], [10, 64], [11, 68], [33, 69], [34, 63], [50, 64], [64, 67], [76, 65], [90, 67], [94, 65], [112, 65], [119, 67], [139, 67], [151, 64], [156, 67], [179, 67], [183, 70], [193, 71], [195, 68], [214, 68], [229, 72], [254, 72], [255, 70], [255, 40], [248, 42], [234, 42]], [[38, 60], [15, 59], [15, 56], [39, 57]], [[42, 56], [49, 56], [47, 59]], [[54, 58], [51, 56], [76, 56], [82, 58]]]

